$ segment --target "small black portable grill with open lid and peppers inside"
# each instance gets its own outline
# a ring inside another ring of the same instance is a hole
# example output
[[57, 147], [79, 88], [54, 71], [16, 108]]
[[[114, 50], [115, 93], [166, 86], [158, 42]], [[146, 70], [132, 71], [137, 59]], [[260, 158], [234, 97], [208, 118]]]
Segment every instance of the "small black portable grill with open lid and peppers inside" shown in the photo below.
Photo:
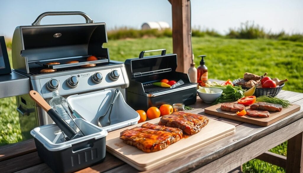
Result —
[[[162, 51], [159, 56], [143, 57], [145, 52]], [[176, 72], [177, 55], [165, 55], [166, 50], [151, 50], [140, 53], [139, 58], [125, 61], [130, 85], [127, 88], [127, 103], [133, 109], [147, 110], [163, 104], [194, 104], [197, 99], [197, 83], [191, 83], [187, 74]], [[161, 79], [178, 81], [184, 84], [176, 88], [163, 88], [152, 85]]]

